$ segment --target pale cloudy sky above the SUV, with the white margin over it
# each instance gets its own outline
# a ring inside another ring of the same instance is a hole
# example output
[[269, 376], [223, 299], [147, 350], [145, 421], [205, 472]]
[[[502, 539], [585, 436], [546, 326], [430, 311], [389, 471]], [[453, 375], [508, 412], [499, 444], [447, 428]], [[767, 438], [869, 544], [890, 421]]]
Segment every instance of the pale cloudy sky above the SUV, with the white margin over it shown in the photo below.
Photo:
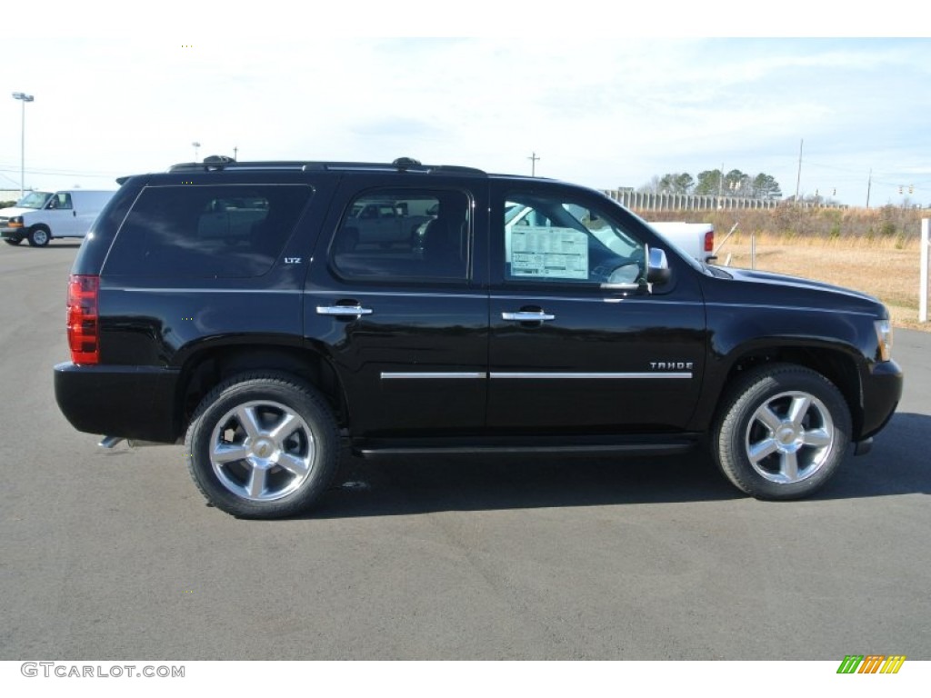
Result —
[[21, 104], [9, 93], [24, 91], [35, 96], [27, 188], [112, 188], [193, 159], [199, 142], [199, 156], [411, 155], [528, 174], [536, 153], [538, 175], [596, 188], [723, 166], [771, 174], [791, 195], [804, 141], [803, 195], [836, 189], [863, 206], [871, 169], [870, 205], [902, 203], [910, 185], [911, 203], [931, 205], [931, 40], [854, 38], [908, 29], [909, 3], [885, 25], [839, 28], [802, 4], [767, 25], [832, 38], [733, 38], [758, 21], [721, 22], [708, 6], [664, 6], [660, 18], [582, 0], [571, 15], [530, 21], [537, 6], [525, 3], [472, 3], [451, 18], [417, 0], [344, 10], [271, 0], [261, 13], [216, 6], [218, 23], [210, 5], [166, 3], [114, 23], [101, 3], [99, 16], [48, 23], [41, 46], [7, 33], [0, 188], [20, 183]]

